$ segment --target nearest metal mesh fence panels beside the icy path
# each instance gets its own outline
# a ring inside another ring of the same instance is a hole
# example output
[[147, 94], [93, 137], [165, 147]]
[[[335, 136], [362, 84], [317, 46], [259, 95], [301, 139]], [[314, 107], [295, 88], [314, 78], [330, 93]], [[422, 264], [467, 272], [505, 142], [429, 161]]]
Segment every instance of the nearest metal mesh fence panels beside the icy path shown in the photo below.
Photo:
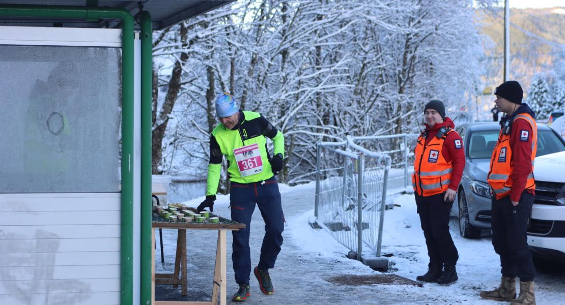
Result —
[[[347, 141], [318, 143], [316, 222], [357, 254], [380, 257], [390, 157]], [[361, 259], [361, 255], [358, 255]]]

